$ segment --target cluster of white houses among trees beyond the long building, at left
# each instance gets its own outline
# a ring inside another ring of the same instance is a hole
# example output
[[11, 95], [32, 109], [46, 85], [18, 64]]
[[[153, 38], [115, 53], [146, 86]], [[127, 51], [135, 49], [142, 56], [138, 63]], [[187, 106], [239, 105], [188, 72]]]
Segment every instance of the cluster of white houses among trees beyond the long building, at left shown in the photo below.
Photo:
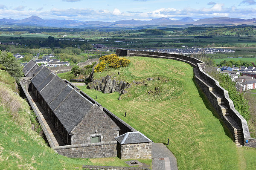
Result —
[[[17, 53], [15, 56], [17, 56], [17, 55], [20, 55], [20, 54]], [[38, 54], [37, 54], [37, 56], [38, 56]], [[52, 54], [46, 55], [41, 59], [35, 60], [35, 63], [37, 63], [37, 64], [40, 63], [41, 65], [44, 65], [44, 66], [47, 66], [47, 67], [69, 66], [70, 65], [70, 63], [67, 62], [67, 61], [62, 61], [61, 62], [60, 60], [56, 59], [55, 55], [52, 55]], [[22, 63], [23, 66], [26, 66], [26, 64], [27, 63]]]

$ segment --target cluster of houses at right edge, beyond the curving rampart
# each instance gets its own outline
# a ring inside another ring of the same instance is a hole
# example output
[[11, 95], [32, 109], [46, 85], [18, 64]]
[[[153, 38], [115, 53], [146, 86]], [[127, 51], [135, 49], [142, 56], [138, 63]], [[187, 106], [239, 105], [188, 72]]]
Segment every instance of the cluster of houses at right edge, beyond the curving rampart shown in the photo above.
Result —
[[230, 75], [232, 81], [236, 82], [236, 89], [240, 92], [256, 89], [256, 68], [254, 66], [233, 66], [233, 68], [230, 66], [223, 66], [221, 68], [216, 68], [216, 70]]

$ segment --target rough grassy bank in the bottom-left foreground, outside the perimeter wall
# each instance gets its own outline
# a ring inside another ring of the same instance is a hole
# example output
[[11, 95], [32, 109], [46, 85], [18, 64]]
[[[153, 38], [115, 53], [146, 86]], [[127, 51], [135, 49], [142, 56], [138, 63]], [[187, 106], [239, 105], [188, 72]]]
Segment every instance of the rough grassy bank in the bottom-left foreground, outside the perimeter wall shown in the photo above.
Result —
[[[81, 169], [83, 164], [128, 166], [124, 162], [127, 160], [117, 157], [82, 159], [67, 158], [55, 153], [40, 135], [30, 129], [30, 107], [25, 100], [12, 92], [15, 89], [14, 82], [7, 72], [0, 70], [0, 88], [5, 88], [10, 95], [15, 96], [23, 108], [19, 111], [19, 120], [15, 121], [8, 108], [0, 104], [0, 169], [71, 170], [75, 167]], [[151, 160], [139, 161], [151, 165]]]

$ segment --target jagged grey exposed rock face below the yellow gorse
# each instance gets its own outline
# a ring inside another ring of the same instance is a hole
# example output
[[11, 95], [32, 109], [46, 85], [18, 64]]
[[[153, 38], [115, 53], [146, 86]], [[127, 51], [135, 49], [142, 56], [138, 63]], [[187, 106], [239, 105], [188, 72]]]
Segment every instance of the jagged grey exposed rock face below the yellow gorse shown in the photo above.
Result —
[[103, 93], [120, 92], [121, 94], [125, 94], [124, 89], [129, 87], [131, 87], [131, 84], [124, 81], [116, 81], [115, 79], [112, 80], [110, 75], [102, 78], [102, 80], [93, 80], [87, 86], [89, 89], [96, 89]]

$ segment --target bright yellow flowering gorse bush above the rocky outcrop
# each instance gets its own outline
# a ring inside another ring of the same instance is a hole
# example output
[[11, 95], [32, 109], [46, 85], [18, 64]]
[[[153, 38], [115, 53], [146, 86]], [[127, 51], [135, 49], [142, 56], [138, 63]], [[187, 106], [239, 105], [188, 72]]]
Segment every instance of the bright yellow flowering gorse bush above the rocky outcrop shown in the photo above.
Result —
[[126, 58], [119, 58], [115, 54], [105, 55], [99, 58], [100, 63], [95, 66], [94, 72], [102, 72], [105, 70], [107, 63], [111, 68], [127, 67], [130, 63], [130, 60]]

